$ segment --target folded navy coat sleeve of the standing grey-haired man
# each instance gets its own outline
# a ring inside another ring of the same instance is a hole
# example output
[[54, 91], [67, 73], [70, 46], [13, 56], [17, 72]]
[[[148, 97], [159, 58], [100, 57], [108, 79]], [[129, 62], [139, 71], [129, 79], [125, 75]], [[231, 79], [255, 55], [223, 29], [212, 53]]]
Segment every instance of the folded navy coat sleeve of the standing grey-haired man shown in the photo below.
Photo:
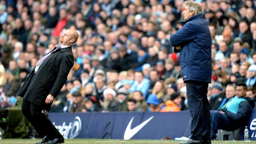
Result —
[[172, 46], [182, 46], [196, 36], [196, 27], [192, 23], [186, 23], [183, 28], [170, 36]]

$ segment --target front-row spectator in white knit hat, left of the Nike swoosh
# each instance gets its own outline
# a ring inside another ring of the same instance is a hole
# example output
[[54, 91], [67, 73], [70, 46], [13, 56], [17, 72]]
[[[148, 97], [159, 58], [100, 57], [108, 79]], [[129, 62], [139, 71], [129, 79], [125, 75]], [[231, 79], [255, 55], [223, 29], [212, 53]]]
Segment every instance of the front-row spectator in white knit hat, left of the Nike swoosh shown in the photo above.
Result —
[[103, 110], [102, 112], [117, 111], [118, 110], [118, 100], [116, 99], [116, 91], [111, 88], [107, 88], [103, 92]]

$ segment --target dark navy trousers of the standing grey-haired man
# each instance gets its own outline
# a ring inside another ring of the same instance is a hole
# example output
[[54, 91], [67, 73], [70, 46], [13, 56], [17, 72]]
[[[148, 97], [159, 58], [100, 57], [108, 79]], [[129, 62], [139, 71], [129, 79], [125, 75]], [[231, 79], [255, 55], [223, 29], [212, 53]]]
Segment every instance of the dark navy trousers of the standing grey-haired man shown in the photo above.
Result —
[[192, 117], [191, 139], [210, 140], [210, 105], [207, 99], [208, 83], [186, 81], [187, 102]]

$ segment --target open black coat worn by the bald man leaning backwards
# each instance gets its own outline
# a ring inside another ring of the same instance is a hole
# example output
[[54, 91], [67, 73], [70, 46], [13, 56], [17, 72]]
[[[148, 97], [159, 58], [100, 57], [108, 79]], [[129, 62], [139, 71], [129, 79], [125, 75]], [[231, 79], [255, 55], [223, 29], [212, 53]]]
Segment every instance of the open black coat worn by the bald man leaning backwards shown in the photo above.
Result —
[[71, 46], [57, 49], [43, 61], [36, 74], [32, 70], [17, 95], [49, 111], [52, 104], [45, 104], [47, 95], [57, 96], [73, 65]]

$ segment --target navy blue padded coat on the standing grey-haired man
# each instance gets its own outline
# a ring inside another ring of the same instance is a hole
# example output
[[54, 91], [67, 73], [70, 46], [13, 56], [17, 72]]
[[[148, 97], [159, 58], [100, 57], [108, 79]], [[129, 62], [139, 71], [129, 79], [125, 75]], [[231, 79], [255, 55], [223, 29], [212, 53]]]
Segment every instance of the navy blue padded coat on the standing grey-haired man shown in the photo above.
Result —
[[[183, 28], [172, 34], [174, 52], [180, 52], [183, 80], [211, 82], [211, 34], [201, 14], [182, 22]], [[176, 46], [181, 46], [180, 50]]]

